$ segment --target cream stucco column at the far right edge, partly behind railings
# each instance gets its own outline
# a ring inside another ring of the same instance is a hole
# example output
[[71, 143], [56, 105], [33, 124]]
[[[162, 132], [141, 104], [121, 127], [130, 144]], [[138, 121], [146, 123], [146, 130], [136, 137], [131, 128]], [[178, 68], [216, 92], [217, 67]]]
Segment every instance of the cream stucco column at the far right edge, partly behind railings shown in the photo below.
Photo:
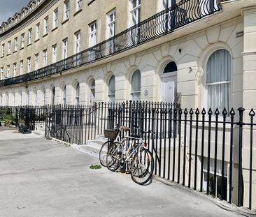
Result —
[[[244, 8], [243, 13], [243, 107], [244, 119], [250, 123], [248, 113], [253, 107], [256, 108], [256, 7]], [[256, 120], [256, 118], [255, 118]], [[254, 132], [255, 135], [255, 132]], [[253, 208], [256, 208], [256, 148], [253, 147]], [[244, 202], [243, 206], [248, 207], [249, 199], [249, 170], [250, 167], [250, 128], [243, 127], [243, 183]]]

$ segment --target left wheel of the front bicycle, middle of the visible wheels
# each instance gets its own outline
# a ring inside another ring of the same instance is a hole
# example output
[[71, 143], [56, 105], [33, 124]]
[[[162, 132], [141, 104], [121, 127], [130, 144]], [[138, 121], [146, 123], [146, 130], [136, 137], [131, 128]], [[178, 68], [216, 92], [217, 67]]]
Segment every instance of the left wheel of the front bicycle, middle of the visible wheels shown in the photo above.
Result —
[[106, 156], [106, 166], [108, 170], [115, 171], [120, 167], [120, 161], [122, 157], [122, 147], [119, 143], [114, 142], [108, 149]]

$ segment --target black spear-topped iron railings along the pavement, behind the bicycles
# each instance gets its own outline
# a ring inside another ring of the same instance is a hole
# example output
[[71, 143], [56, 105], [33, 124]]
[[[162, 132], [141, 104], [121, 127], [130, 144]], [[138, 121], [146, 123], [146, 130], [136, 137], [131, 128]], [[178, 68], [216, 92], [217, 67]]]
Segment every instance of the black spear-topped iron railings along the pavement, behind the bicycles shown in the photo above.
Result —
[[[92, 106], [8, 107], [30, 128], [69, 143], [86, 144], [115, 124], [144, 135], [155, 175], [239, 207], [256, 209], [255, 110], [187, 110], [176, 104], [100, 102]], [[1, 107], [0, 107], [1, 110]]]

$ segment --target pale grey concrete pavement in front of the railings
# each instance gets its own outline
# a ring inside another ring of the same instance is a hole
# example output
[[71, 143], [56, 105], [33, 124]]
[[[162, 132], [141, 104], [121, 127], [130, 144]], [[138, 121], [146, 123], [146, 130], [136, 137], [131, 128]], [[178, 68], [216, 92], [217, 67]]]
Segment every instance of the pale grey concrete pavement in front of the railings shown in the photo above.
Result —
[[95, 163], [38, 135], [0, 131], [0, 216], [240, 216], [176, 185], [91, 170]]

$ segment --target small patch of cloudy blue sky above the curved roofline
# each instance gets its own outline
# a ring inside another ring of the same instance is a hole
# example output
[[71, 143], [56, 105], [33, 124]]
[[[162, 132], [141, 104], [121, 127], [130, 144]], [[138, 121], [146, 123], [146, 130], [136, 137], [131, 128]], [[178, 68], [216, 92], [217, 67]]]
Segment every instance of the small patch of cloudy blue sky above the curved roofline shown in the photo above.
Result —
[[27, 6], [29, 0], [0, 0], [0, 24], [12, 17], [22, 6]]

